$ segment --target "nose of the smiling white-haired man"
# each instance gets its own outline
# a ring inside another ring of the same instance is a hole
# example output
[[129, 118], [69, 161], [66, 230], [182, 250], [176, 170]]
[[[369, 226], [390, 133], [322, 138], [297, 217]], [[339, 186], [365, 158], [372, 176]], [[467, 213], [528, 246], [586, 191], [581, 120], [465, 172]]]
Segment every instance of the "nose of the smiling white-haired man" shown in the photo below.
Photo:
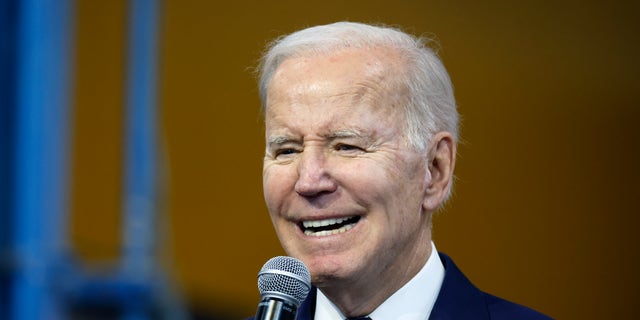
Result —
[[314, 197], [336, 190], [336, 181], [331, 175], [327, 157], [321, 150], [309, 148], [302, 152], [298, 161], [295, 191], [299, 195]]

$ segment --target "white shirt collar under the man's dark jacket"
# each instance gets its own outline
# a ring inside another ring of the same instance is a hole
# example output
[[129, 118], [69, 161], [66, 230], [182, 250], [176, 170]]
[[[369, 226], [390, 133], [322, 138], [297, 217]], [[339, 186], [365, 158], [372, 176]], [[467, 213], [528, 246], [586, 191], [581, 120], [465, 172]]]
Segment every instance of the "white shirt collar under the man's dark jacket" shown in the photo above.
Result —
[[[431, 255], [424, 267], [369, 316], [373, 320], [427, 320], [444, 280], [444, 266], [431, 242]], [[343, 320], [346, 317], [318, 290], [314, 320]]]

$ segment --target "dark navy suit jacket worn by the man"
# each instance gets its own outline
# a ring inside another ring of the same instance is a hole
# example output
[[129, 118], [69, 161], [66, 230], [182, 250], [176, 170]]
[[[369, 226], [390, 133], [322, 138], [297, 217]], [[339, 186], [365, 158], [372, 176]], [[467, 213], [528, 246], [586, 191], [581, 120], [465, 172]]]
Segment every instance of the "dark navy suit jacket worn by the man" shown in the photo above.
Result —
[[[444, 265], [445, 276], [429, 320], [551, 319], [527, 307], [480, 291], [462, 274], [451, 258], [440, 253], [440, 260]], [[302, 302], [296, 320], [313, 320], [316, 291], [313, 288]]]

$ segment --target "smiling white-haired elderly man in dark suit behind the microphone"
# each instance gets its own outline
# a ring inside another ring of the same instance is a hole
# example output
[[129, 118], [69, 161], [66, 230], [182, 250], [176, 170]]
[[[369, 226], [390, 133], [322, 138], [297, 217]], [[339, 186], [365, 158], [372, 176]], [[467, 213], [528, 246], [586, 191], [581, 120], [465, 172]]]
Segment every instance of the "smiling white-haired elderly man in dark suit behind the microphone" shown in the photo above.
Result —
[[260, 94], [264, 197], [314, 285], [298, 319], [548, 319], [479, 291], [436, 251], [458, 113], [420, 39], [348, 22], [295, 32], [263, 57]]

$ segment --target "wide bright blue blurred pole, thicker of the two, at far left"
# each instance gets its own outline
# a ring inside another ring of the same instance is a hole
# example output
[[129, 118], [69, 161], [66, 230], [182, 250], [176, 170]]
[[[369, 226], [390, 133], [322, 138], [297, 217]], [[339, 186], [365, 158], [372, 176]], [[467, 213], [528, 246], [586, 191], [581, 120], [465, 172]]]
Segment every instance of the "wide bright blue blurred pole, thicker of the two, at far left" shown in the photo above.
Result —
[[62, 319], [52, 269], [66, 252], [72, 2], [19, 1], [10, 319]]

